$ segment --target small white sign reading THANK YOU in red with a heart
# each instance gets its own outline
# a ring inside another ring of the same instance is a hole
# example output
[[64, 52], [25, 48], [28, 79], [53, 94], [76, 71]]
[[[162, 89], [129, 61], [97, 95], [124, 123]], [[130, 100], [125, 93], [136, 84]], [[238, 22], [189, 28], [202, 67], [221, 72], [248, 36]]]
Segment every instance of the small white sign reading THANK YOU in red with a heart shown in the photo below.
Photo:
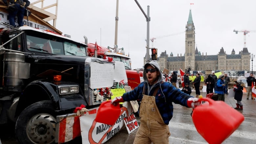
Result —
[[137, 121], [134, 113], [128, 115], [125, 118], [123, 118], [123, 121], [125, 123], [128, 134], [131, 134], [134, 130], [139, 128], [139, 124], [138, 124], [138, 121]]

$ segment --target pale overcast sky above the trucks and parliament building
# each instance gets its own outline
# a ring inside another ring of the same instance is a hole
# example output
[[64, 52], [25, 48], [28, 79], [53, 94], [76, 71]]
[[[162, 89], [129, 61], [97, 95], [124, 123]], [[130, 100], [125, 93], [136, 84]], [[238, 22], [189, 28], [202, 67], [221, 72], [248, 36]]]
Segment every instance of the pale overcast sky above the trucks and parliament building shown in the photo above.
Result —
[[[31, 2], [36, 0], [31, 0]], [[45, 0], [49, 1], [49, 0]], [[50, 0], [52, 1], [52, 0]], [[147, 13], [150, 6], [150, 38], [185, 31], [189, 10], [195, 25], [195, 41], [201, 54], [216, 55], [223, 47], [227, 54], [232, 49], [236, 54], [243, 50], [243, 32], [246, 47], [256, 54], [256, 1], [254, 0], [138, 0]], [[194, 3], [194, 5], [190, 5]], [[114, 47], [115, 42], [116, 0], [58, 0], [56, 28], [71, 38], [104, 47]], [[134, 0], [119, 0], [118, 48], [130, 54], [132, 69], [142, 68], [146, 54], [147, 22]], [[253, 31], [255, 30], [255, 31]], [[150, 47], [152, 43], [150, 41]], [[185, 33], [157, 38], [154, 47], [170, 55], [184, 55]], [[150, 51], [151, 53], [151, 51]], [[253, 64], [256, 66], [256, 61]], [[251, 64], [250, 64], [251, 67]], [[255, 69], [254, 69], [255, 70]]]

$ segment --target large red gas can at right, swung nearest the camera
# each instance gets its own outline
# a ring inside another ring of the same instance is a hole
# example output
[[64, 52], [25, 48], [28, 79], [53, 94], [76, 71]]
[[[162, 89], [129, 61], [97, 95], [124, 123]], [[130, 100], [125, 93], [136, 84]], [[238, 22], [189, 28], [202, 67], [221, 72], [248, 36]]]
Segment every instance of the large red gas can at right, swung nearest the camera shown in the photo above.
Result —
[[192, 120], [199, 134], [209, 144], [220, 144], [231, 135], [244, 121], [243, 114], [223, 101], [200, 98], [207, 101], [193, 110]]

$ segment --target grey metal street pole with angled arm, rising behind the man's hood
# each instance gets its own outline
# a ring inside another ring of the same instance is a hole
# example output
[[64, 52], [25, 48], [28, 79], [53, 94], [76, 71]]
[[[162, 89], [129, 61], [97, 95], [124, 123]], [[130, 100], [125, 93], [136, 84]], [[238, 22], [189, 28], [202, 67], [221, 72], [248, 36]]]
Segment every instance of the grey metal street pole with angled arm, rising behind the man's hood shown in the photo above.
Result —
[[144, 16], [146, 17], [147, 21], [147, 45], [146, 45], [146, 63], [149, 63], [149, 22], [150, 22], [150, 17], [149, 17], [149, 6], [147, 6], [147, 14], [143, 11], [141, 6], [139, 5], [139, 2], [137, 0], [134, 0], [136, 4], [139, 6], [139, 9], [142, 11]]

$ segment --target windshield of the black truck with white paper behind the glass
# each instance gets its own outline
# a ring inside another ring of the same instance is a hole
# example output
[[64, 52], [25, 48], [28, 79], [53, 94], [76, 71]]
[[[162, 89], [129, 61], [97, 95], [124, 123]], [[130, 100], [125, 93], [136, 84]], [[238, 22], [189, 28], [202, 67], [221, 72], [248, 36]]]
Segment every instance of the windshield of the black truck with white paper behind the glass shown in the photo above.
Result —
[[34, 34], [27, 34], [27, 49], [51, 54], [86, 56], [85, 46], [49, 35], [35, 37]]

